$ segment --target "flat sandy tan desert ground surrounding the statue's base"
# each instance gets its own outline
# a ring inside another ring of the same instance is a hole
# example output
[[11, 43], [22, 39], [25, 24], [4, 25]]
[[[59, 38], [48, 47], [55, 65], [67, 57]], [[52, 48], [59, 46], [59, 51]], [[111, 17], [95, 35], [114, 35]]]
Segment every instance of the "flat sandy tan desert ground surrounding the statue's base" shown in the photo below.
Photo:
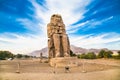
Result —
[[68, 72], [64, 67], [50, 67], [45, 62], [39, 59], [2, 60], [0, 80], [120, 80], [120, 60], [78, 59], [78, 66], [70, 67]]

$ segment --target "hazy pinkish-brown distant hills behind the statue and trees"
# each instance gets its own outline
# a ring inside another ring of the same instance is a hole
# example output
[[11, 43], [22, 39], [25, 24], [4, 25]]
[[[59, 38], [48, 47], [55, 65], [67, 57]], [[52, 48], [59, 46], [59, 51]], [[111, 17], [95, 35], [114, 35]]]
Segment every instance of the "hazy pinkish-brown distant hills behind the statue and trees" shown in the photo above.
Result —
[[[99, 51], [101, 50], [101, 49], [94, 49], [94, 48], [86, 49], [86, 48], [81, 48], [81, 47], [77, 47], [77, 46], [74, 46], [74, 45], [71, 45], [70, 48], [73, 51], [73, 53], [75, 53], [75, 54], [81, 54], [81, 53], [87, 53], [87, 52], [94, 52], [94, 53], [98, 54]], [[102, 49], [109, 50], [107, 48], [102, 48]], [[111, 50], [111, 51], [113, 51], [116, 54], [118, 50]], [[35, 51], [33, 51], [29, 54], [31, 56], [39, 57], [40, 53], [43, 53], [43, 56], [48, 56], [48, 48], [45, 47], [45, 48], [42, 48], [41, 50], [35, 50]]]

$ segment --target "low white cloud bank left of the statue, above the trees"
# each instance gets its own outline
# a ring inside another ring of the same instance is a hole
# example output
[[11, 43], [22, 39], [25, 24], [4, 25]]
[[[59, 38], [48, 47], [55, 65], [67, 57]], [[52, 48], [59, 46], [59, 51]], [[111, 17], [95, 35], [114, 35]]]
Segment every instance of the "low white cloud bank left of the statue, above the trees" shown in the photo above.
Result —
[[16, 38], [8, 38], [7, 36], [0, 38], [0, 50], [9, 50], [15, 54], [27, 54], [33, 50], [44, 48], [47, 45], [45, 36], [21, 36], [16, 34], [13, 34], [13, 36]]

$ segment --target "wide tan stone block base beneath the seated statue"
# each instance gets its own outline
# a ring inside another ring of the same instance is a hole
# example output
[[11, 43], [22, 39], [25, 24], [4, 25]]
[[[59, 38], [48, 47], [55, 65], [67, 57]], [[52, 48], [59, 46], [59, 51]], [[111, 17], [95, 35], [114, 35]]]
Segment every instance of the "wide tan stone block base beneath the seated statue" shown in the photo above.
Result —
[[57, 57], [50, 59], [50, 66], [52, 67], [75, 67], [77, 64], [77, 57]]

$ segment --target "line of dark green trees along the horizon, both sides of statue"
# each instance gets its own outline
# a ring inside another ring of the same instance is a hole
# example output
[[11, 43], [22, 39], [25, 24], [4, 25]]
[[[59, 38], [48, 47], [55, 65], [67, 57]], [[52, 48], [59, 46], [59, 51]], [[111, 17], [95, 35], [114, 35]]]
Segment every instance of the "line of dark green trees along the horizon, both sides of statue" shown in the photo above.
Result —
[[[72, 51], [70, 51], [70, 56], [74, 57], [77, 56], [80, 59], [97, 59], [97, 58], [114, 58], [114, 59], [120, 59], [120, 50], [117, 52], [118, 55], [113, 55], [112, 51], [105, 51], [101, 50], [97, 55], [94, 52], [88, 52], [88, 53], [82, 53], [82, 54], [74, 54]], [[14, 59], [14, 58], [30, 58], [33, 56], [25, 55], [25, 54], [13, 54], [10, 51], [0, 51], [0, 60], [6, 60], [6, 59]]]

